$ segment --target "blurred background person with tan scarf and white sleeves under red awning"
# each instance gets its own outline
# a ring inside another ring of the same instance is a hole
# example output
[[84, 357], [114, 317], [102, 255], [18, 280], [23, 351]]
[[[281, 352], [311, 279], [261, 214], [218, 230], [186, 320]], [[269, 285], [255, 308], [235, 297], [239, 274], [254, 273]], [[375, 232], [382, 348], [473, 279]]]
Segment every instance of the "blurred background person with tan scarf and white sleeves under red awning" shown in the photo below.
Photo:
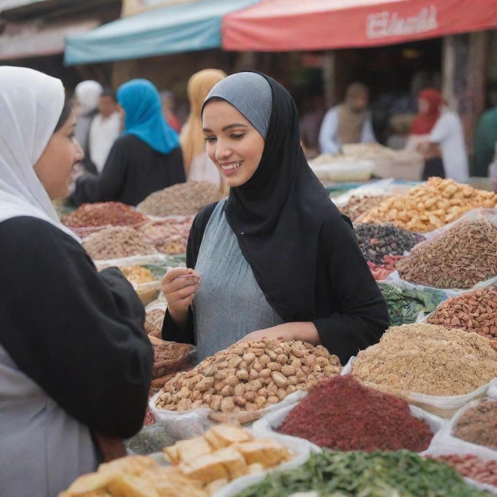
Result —
[[366, 85], [352, 83], [347, 87], [345, 101], [332, 107], [323, 119], [319, 133], [322, 154], [339, 154], [341, 146], [349, 143], [376, 142], [368, 103]]

